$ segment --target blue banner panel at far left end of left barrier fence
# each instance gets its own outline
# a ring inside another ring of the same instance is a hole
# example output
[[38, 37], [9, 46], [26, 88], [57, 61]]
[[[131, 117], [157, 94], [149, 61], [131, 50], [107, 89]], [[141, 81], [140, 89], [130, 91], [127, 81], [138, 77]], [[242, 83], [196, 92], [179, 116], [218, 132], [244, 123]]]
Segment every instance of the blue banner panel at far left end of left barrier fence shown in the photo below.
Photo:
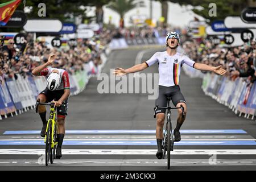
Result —
[[5, 106], [5, 113], [8, 114], [8, 113], [15, 112], [16, 108], [13, 104], [13, 100], [11, 99], [11, 96], [5, 81], [3, 81], [2, 84], [0, 84], [0, 96]]

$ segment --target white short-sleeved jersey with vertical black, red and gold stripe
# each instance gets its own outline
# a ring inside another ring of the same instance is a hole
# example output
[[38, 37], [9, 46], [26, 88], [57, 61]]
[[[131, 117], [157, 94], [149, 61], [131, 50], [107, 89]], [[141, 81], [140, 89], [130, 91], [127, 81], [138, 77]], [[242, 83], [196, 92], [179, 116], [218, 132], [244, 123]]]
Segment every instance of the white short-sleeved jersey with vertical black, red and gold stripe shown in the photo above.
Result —
[[150, 67], [154, 63], [158, 63], [159, 85], [174, 86], [179, 85], [179, 76], [182, 65], [185, 63], [190, 67], [194, 67], [195, 61], [189, 59], [184, 53], [177, 52], [175, 55], [168, 55], [167, 51], [156, 52], [145, 63]]

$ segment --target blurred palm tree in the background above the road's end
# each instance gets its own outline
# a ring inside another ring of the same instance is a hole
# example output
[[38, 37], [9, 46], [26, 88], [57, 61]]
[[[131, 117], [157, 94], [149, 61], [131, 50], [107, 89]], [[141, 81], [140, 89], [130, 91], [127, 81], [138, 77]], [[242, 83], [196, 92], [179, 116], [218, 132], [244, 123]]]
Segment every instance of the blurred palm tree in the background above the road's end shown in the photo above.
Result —
[[131, 9], [134, 9], [136, 7], [135, 0], [115, 0], [113, 2], [110, 2], [108, 6], [109, 9], [112, 9], [113, 11], [117, 12], [120, 15], [120, 21], [119, 21], [119, 26], [123, 28], [124, 26], [124, 21], [123, 21], [123, 16], [130, 11]]

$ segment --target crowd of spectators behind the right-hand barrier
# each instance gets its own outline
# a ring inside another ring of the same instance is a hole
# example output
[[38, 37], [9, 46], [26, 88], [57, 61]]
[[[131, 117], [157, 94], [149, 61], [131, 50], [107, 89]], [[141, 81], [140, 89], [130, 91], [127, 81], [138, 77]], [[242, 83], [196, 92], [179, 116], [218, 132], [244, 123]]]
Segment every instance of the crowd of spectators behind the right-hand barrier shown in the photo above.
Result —
[[222, 65], [226, 76], [235, 80], [237, 77], [248, 78], [250, 82], [256, 80], [256, 42], [251, 41], [238, 47], [221, 47], [209, 40], [198, 43], [196, 40], [184, 42], [186, 53], [198, 63], [212, 66]]

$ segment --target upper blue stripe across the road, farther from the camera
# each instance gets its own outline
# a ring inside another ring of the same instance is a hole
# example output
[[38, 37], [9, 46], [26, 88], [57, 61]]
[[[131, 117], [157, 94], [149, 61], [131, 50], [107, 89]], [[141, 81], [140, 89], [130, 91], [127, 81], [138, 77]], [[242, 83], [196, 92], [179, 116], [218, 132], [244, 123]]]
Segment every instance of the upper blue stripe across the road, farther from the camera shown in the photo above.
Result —
[[[244, 130], [180, 130], [181, 134], [246, 134]], [[5, 131], [4, 135], [40, 134], [40, 130]], [[155, 130], [66, 130], [66, 134], [155, 134]]]

